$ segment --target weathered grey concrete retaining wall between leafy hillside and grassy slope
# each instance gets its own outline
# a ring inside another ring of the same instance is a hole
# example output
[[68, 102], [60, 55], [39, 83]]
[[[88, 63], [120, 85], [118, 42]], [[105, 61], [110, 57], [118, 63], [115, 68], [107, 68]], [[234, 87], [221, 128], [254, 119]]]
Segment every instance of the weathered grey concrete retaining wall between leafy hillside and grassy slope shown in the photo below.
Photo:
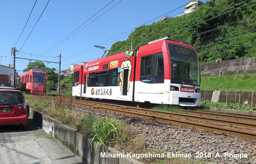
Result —
[[[237, 59], [237, 60], [226, 60], [221, 62], [220, 75], [234, 75], [242, 72], [249, 74], [256, 73], [256, 57]], [[219, 75], [219, 64], [213, 63], [202, 63], [200, 67], [202, 76], [218, 76]]]

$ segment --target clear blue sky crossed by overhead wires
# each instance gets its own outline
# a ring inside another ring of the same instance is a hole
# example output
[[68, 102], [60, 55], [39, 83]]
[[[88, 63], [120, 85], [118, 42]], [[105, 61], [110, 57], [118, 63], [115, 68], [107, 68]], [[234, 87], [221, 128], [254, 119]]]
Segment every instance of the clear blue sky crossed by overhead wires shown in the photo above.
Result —
[[[104, 51], [93, 45], [100, 45], [109, 50], [116, 41], [126, 40], [135, 27], [144, 23], [152, 24], [166, 15], [175, 17], [184, 13], [184, 6], [189, 2], [189, 0], [37, 0], [35, 4], [35, 1], [0, 0], [0, 55], [6, 56], [1, 58], [1, 65], [13, 64], [11, 49], [14, 46], [20, 51], [16, 57], [32, 59], [31, 62], [34, 60], [59, 62], [57, 56], [61, 54], [61, 70], [68, 69], [70, 64], [101, 58]], [[206, 0], [201, 1], [206, 2]], [[97, 12], [99, 13], [96, 14]], [[128, 32], [124, 33], [126, 31]], [[23, 74], [22, 70], [29, 62], [29, 60], [16, 59], [16, 70], [19, 75]], [[47, 67], [58, 70], [59, 64], [44, 63]]]

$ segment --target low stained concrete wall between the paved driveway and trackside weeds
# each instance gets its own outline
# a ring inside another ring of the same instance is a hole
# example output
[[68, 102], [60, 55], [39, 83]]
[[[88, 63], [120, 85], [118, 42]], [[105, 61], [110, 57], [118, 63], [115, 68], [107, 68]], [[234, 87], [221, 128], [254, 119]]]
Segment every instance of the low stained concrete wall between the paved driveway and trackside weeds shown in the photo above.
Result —
[[[39, 127], [42, 127], [47, 134], [51, 134], [62, 145], [70, 149], [85, 164], [143, 164], [132, 157], [125, 157], [123, 153], [116, 149], [106, 148], [104, 145], [98, 145], [96, 149], [96, 143], [94, 143], [92, 148], [91, 140], [85, 134], [62, 124], [58, 120], [49, 118], [41, 112], [29, 108], [29, 114], [31, 118], [38, 122]], [[52, 127], [51, 130], [50, 126]], [[50, 131], [52, 132], [50, 133]], [[95, 149], [96, 153], [93, 154]], [[103, 157], [104, 155], [105, 157]]]

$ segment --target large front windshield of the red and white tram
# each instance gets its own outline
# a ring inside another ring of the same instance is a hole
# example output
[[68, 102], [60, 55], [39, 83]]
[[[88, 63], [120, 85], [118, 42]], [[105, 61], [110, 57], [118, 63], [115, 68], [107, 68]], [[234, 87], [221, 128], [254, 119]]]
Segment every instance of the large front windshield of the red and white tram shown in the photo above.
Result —
[[200, 85], [199, 62], [194, 49], [168, 43], [171, 83]]

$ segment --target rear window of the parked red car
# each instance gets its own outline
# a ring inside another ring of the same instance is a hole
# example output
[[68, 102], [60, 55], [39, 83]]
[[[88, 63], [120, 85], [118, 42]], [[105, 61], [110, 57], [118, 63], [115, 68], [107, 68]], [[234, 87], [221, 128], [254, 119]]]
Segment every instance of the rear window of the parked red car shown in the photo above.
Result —
[[0, 92], [0, 104], [23, 105], [22, 93]]

